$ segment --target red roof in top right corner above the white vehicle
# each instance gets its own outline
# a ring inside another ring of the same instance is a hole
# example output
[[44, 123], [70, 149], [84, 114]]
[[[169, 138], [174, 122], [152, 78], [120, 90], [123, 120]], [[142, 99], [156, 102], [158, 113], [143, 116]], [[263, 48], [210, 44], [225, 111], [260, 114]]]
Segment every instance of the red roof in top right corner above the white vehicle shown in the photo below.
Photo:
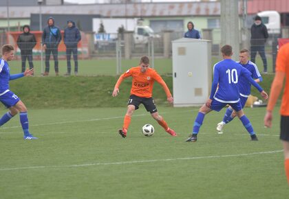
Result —
[[288, 0], [248, 0], [248, 14], [256, 14], [265, 10], [275, 10], [279, 13], [289, 13]]

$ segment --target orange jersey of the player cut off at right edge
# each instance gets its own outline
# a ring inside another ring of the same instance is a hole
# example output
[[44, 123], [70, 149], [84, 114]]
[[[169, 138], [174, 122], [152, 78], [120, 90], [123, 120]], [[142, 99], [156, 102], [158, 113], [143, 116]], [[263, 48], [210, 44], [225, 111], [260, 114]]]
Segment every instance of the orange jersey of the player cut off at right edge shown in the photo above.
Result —
[[281, 115], [289, 116], [289, 43], [283, 45], [278, 52], [276, 71], [286, 73], [286, 83], [280, 113]]

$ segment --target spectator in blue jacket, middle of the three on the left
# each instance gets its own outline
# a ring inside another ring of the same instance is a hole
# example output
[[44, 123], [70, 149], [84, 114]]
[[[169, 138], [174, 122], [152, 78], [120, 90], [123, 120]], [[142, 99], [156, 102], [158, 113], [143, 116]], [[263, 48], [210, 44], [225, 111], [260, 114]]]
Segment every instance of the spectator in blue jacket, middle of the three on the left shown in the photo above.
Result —
[[50, 54], [52, 53], [54, 58], [55, 74], [58, 75], [58, 45], [61, 42], [61, 32], [58, 27], [54, 25], [54, 19], [50, 17], [47, 21], [47, 26], [43, 30], [42, 43], [45, 49], [45, 73], [49, 74], [50, 69]]

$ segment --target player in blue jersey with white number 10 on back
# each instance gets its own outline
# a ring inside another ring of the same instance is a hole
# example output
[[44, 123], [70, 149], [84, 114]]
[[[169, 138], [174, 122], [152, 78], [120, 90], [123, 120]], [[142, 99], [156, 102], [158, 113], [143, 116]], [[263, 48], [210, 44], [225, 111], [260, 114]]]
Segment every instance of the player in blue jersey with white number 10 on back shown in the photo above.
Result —
[[[204, 121], [204, 116], [207, 113], [210, 113], [211, 110], [216, 110], [219, 112], [227, 104], [236, 111], [237, 116], [250, 134], [251, 139], [253, 141], [257, 141], [257, 136], [253, 130], [252, 125], [250, 124], [250, 121], [246, 115], [244, 115], [242, 104], [239, 100], [239, 79], [244, 77], [250, 81], [251, 84], [253, 84], [253, 86], [258, 89], [264, 99], [267, 99], [268, 95], [261, 88], [261, 86], [259, 86], [255, 80], [250, 77], [250, 71], [231, 59], [233, 52], [230, 45], [224, 45], [221, 49], [221, 52], [223, 60], [217, 62], [213, 69], [214, 76], [211, 95], [206, 101], [206, 104], [200, 108], [193, 125], [193, 133], [189, 139], [186, 139], [186, 141], [197, 141], [197, 133], [200, 131], [200, 127]], [[218, 85], [219, 87], [217, 88]]]

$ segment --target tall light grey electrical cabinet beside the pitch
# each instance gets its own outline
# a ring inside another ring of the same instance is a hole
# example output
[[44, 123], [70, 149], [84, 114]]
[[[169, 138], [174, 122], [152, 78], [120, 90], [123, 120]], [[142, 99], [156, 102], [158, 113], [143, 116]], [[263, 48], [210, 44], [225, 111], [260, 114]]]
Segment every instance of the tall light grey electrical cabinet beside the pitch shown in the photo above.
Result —
[[173, 40], [173, 106], [200, 106], [211, 92], [211, 40]]

